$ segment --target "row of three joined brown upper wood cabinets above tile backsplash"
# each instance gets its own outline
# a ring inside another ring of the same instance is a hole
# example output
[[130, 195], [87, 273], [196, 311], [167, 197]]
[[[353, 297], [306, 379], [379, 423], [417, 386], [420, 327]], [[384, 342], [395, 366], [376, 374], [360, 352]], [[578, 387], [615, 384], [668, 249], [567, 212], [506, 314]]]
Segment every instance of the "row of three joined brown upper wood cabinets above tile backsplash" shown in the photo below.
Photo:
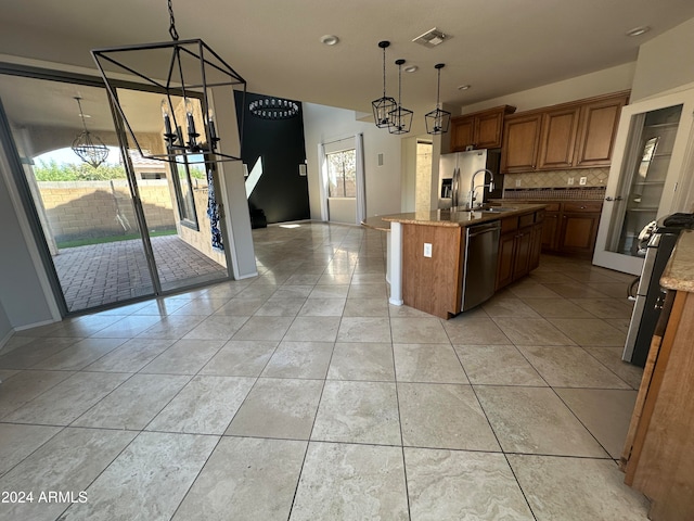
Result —
[[628, 99], [628, 91], [617, 92], [509, 116], [501, 171], [609, 166]]

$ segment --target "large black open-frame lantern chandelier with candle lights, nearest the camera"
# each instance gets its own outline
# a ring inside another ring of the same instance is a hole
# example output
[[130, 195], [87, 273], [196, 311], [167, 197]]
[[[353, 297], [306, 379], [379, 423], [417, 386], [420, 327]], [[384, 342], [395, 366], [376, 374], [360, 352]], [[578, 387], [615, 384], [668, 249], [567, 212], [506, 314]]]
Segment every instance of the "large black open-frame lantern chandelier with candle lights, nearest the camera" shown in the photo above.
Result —
[[[239, 161], [239, 157], [219, 150], [213, 97], [223, 96], [224, 106], [233, 106], [236, 87], [243, 89], [245, 103], [246, 80], [202, 39], [179, 40], [171, 0], [168, 0], [168, 11], [172, 41], [91, 51], [113, 105], [143, 157], [175, 161], [185, 155], [189, 163]], [[136, 76], [155, 92], [163, 93], [160, 110], [166, 152], [152, 153], [140, 145], [127, 110], [117, 96], [118, 79], [110, 77], [114, 73]]]

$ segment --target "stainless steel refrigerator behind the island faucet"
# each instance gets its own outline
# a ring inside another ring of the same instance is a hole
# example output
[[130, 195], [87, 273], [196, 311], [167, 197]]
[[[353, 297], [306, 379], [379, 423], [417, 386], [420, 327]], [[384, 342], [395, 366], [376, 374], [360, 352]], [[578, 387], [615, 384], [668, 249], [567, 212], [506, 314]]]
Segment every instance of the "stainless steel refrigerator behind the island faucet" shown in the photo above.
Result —
[[[499, 174], [501, 160], [500, 150], [471, 150], [468, 152], [454, 152], [441, 154], [438, 165], [438, 207], [448, 209], [451, 206], [465, 206], [471, 189], [473, 174], [480, 169], [493, 173], [494, 188], [477, 190], [475, 204], [487, 202], [489, 199], [501, 199], [503, 180]], [[484, 183], [489, 183], [489, 175], [485, 175]], [[475, 180], [476, 185], [483, 185], [481, 174]]]

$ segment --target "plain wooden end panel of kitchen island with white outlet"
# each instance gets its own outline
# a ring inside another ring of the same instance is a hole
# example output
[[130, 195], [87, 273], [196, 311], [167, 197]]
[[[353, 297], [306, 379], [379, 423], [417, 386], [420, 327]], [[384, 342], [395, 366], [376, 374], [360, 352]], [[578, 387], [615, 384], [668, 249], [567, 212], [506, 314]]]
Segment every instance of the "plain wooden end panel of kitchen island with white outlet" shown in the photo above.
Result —
[[[407, 306], [448, 319], [460, 313], [463, 228], [402, 225], [402, 300]], [[424, 256], [424, 244], [432, 256]]]

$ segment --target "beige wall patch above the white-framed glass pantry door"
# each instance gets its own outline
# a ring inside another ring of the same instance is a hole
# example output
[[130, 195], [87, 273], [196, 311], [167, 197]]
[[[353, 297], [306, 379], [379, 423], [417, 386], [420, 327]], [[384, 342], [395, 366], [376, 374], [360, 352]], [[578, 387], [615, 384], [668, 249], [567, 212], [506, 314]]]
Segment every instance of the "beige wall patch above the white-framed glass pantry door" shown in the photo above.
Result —
[[693, 82], [693, 50], [694, 18], [641, 46], [631, 100], [641, 100]]

